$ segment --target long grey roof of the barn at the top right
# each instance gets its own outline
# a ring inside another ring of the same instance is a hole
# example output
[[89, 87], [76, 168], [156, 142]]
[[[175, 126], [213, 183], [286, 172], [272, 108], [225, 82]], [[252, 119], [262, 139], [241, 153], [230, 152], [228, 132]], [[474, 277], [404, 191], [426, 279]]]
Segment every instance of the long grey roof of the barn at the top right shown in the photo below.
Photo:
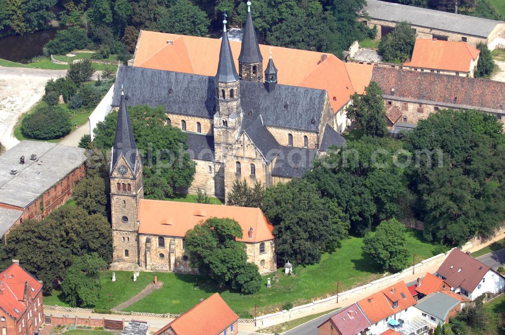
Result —
[[474, 16], [435, 11], [407, 5], [367, 0], [364, 11], [373, 19], [392, 22], [408, 21], [413, 25], [487, 38], [497, 24]]

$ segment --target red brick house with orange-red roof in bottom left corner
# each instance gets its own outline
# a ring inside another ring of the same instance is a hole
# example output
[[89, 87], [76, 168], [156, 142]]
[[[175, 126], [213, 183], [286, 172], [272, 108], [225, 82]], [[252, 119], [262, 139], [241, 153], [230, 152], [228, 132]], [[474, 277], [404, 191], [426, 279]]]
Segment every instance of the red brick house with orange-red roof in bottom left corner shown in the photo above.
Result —
[[32, 335], [44, 322], [42, 283], [13, 260], [0, 272], [2, 335]]

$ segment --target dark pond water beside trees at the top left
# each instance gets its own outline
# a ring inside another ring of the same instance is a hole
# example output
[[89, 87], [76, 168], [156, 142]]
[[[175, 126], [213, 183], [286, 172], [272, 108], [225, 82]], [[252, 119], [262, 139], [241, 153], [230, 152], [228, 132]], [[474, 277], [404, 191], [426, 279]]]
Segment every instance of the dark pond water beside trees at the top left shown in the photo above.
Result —
[[42, 54], [42, 47], [55, 37], [57, 28], [37, 31], [31, 34], [7, 36], [0, 38], [0, 58], [26, 63]]

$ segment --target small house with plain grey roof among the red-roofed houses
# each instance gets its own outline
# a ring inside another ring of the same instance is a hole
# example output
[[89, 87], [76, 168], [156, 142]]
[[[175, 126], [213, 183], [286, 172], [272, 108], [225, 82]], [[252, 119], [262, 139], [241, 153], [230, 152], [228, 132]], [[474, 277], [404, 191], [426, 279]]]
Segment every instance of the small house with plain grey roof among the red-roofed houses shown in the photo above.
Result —
[[416, 304], [414, 311], [426, 318], [433, 327], [444, 324], [461, 311], [461, 301], [442, 292], [430, 293]]

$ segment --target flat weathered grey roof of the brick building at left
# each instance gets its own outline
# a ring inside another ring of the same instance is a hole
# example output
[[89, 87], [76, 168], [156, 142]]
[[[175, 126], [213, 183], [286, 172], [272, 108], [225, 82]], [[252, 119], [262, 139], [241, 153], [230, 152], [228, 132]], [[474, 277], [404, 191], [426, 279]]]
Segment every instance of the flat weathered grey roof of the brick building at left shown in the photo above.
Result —
[[[0, 203], [25, 208], [87, 159], [84, 149], [63, 144], [21, 141], [0, 156]], [[31, 154], [37, 159], [31, 160]], [[19, 158], [25, 156], [25, 163]], [[11, 169], [17, 169], [11, 175]]]

